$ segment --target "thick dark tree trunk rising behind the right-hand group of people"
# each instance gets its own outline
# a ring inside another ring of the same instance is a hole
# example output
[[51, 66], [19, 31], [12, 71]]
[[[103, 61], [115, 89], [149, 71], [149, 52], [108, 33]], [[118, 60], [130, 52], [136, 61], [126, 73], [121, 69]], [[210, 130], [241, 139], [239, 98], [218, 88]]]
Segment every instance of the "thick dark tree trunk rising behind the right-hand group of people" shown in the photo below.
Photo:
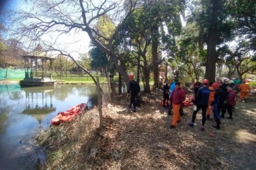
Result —
[[205, 78], [210, 82], [215, 82], [216, 62], [217, 62], [217, 40], [220, 39], [218, 34], [218, 17], [222, 10], [222, 0], [210, 0], [208, 7], [210, 11], [208, 17], [208, 33], [206, 37], [207, 55], [206, 55], [206, 70]]

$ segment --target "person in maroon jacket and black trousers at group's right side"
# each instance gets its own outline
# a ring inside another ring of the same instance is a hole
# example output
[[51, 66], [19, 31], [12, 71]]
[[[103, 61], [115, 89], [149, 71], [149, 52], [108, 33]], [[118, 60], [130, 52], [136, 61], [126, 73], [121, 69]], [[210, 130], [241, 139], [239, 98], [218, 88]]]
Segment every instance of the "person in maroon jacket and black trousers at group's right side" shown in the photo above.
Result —
[[233, 90], [233, 86], [229, 85], [228, 86], [228, 95], [226, 97], [224, 106], [221, 110], [221, 112], [222, 112], [221, 117], [222, 118], [224, 118], [225, 112], [226, 112], [226, 110], [228, 110], [229, 117], [227, 117], [227, 118], [233, 119], [233, 117], [232, 117], [232, 115], [233, 115], [232, 107], [235, 105], [235, 98], [236, 98], [236, 93]]

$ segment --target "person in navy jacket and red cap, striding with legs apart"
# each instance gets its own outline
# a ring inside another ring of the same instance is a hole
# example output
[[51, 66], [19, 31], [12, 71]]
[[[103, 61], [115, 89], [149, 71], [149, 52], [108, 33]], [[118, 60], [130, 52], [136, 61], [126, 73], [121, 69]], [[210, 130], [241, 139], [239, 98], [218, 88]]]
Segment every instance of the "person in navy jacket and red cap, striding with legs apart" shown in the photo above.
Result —
[[203, 80], [203, 87], [198, 89], [197, 98], [194, 100], [194, 104], [196, 105], [196, 110], [193, 111], [192, 121], [188, 123], [190, 127], [194, 126], [194, 121], [197, 116], [197, 112], [202, 109], [202, 127], [201, 130], [204, 130], [204, 124], [206, 121], [206, 110], [208, 108], [208, 101], [210, 96], [210, 89], [208, 88], [209, 81], [207, 79]]

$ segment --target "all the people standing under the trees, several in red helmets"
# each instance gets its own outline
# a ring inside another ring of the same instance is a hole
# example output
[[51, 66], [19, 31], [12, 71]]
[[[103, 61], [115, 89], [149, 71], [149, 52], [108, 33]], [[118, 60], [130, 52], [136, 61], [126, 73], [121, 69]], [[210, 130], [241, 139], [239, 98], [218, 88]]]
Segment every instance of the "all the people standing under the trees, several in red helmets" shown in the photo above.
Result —
[[[141, 89], [137, 81], [134, 80], [133, 75], [129, 75], [130, 84], [127, 91], [127, 97], [131, 95], [130, 108], [133, 105], [132, 111], [136, 112], [136, 97], [140, 96]], [[233, 119], [233, 109], [236, 105], [237, 93], [240, 92], [240, 101], [247, 102], [248, 92], [251, 92], [249, 85], [245, 80], [242, 84], [237, 86], [233, 80], [224, 80], [224, 83], [217, 81], [216, 83], [209, 83], [207, 79], [204, 79], [202, 83], [199, 80], [193, 84], [194, 87], [194, 99], [193, 102], [193, 115], [192, 121], [188, 123], [190, 127], [194, 127], [194, 122], [199, 110], [202, 110], [202, 126], [201, 130], [205, 130], [204, 125], [206, 120], [210, 119], [210, 115], [214, 115], [216, 125], [212, 127], [220, 129], [221, 118], [225, 118], [225, 112], [228, 111], [228, 119]], [[172, 114], [173, 119], [170, 128], [175, 128], [181, 121], [181, 116], [184, 116], [182, 104], [186, 100], [186, 93], [178, 80], [174, 80], [170, 83], [170, 80], [166, 80], [163, 85], [163, 106], [168, 107], [168, 115]], [[221, 113], [221, 115], [220, 115]]]

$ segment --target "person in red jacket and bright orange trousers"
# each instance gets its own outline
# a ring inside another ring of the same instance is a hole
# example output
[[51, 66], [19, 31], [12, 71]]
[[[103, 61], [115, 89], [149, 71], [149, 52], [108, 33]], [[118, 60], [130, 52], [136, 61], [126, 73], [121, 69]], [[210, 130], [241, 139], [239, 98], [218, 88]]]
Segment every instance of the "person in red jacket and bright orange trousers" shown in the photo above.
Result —
[[180, 122], [180, 107], [185, 99], [185, 91], [180, 87], [180, 83], [176, 82], [175, 89], [170, 97], [170, 101], [173, 103], [173, 122], [172, 125], [170, 125], [170, 128], [175, 128], [177, 123]]

